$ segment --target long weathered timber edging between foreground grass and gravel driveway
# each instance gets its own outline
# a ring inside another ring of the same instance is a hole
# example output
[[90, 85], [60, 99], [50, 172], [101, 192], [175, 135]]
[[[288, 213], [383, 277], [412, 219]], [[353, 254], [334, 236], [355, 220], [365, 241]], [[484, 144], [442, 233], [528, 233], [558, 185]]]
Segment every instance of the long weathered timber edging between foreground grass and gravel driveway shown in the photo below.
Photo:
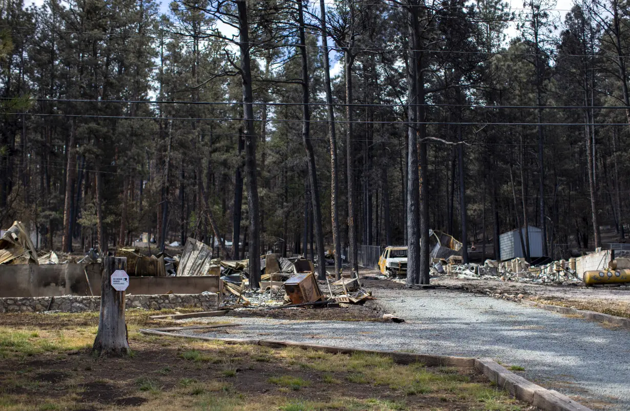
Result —
[[461, 368], [476, 368], [483, 373], [488, 380], [495, 383], [500, 388], [508, 391], [510, 395], [530, 403], [544, 411], [592, 411], [590, 408], [571, 400], [564, 394], [555, 390], [547, 390], [531, 381], [525, 380], [507, 368], [501, 366], [490, 358], [469, 358], [455, 356], [440, 356], [431, 354], [415, 354], [413, 352], [364, 350], [345, 347], [319, 346], [316, 344], [306, 344], [293, 341], [274, 341], [256, 339], [229, 339], [212, 338], [201, 335], [173, 334], [154, 329], [140, 329], [140, 333], [148, 335], [164, 335], [168, 337], [182, 337], [190, 339], [201, 339], [205, 341], [221, 341], [226, 344], [253, 344], [264, 347], [298, 347], [301, 349], [313, 349], [317, 351], [352, 354], [353, 352], [364, 352], [367, 354], [380, 354], [390, 356], [397, 364], [423, 363], [428, 366], [452, 366]]

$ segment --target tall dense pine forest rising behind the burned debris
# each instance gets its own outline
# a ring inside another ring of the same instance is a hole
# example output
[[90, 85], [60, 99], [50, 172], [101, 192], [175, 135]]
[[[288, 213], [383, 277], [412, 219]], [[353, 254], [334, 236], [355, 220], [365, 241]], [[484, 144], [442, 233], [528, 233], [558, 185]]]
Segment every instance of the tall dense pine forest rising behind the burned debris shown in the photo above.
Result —
[[625, 1], [336, 0], [324, 27], [320, 6], [4, 1], [0, 226], [43, 249], [147, 232], [241, 259], [333, 250], [336, 221], [351, 267], [357, 245], [429, 228], [488, 257], [524, 225], [554, 258], [626, 237]]

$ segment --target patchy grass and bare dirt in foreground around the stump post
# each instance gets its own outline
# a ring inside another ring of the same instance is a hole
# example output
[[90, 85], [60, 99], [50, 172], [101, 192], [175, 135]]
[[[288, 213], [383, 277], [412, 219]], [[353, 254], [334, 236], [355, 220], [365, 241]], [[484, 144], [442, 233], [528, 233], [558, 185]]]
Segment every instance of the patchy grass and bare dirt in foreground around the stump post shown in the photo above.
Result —
[[130, 358], [98, 358], [93, 314], [0, 314], [0, 409], [532, 409], [473, 369], [140, 334], [156, 312], [127, 315]]

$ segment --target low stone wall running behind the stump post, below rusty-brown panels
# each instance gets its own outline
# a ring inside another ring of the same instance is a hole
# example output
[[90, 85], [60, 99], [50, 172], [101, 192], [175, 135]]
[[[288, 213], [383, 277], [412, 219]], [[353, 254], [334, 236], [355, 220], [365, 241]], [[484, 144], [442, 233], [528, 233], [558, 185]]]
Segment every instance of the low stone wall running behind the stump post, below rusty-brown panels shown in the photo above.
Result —
[[[52, 303], [51, 303], [52, 301]], [[62, 311], [98, 311], [101, 298], [93, 296], [64, 295], [57, 297], [0, 298], [0, 313]], [[127, 295], [127, 308], [163, 310], [166, 308], [200, 308], [214, 311], [219, 308], [219, 295], [209, 294], [166, 294], [166, 295]]]

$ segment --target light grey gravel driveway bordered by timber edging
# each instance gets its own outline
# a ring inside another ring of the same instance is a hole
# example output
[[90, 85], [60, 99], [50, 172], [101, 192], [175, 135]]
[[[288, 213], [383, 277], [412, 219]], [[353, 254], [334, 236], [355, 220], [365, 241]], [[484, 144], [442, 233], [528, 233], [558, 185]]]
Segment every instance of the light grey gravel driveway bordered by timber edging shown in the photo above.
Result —
[[378, 290], [374, 295], [388, 312], [406, 322], [238, 318], [234, 322], [243, 327], [229, 329], [229, 334], [205, 335], [490, 357], [504, 366], [524, 367], [518, 373], [528, 380], [587, 406], [630, 410], [630, 332], [626, 330], [445, 290]]

